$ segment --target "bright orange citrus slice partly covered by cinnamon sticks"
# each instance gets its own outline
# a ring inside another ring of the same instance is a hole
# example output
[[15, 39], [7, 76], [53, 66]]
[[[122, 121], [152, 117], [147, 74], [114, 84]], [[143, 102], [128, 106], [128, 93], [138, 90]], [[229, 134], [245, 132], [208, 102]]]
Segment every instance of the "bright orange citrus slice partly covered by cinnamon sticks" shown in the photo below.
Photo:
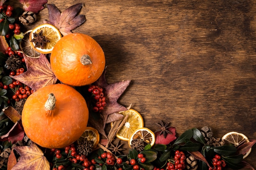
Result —
[[[133, 109], [125, 110], [119, 113], [124, 116], [128, 115], [128, 118], [126, 119], [124, 125], [120, 128], [116, 137], [118, 137], [121, 140], [128, 141], [132, 133], [137, 128], [142, 128], [144, 126], [144, 121], [141, 115]], [[111, 127], [112, 125], [113, 123], [111, 123]]]

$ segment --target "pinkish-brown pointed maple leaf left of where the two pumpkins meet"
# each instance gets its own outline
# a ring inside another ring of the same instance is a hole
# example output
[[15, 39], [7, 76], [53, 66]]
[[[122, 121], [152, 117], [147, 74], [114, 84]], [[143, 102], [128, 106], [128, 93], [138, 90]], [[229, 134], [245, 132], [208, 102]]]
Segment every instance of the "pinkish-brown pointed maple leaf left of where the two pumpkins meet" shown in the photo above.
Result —
[[49, 84], [55, 84], [56, 76], [52, 72], [49, 61], [44, 54], [39, 58], [26, 57], [24, 55], [27, 71], [16, 76], [10, 76], [36, 91]]

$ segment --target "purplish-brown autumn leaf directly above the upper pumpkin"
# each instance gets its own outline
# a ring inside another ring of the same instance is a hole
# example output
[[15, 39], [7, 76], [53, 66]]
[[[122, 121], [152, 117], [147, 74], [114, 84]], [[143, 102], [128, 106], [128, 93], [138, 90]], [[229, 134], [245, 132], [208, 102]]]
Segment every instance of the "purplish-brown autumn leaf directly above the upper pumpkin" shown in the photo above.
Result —
[[53, 24], [62, 35], [72, 33], [71, 30], [77, 28], [85, 22], [85, 15], [77, 15], [83, 4], [74, 4], [65, 9], [62, 13], [54, 4], [47, 4], [49, 11], [49, 24]]

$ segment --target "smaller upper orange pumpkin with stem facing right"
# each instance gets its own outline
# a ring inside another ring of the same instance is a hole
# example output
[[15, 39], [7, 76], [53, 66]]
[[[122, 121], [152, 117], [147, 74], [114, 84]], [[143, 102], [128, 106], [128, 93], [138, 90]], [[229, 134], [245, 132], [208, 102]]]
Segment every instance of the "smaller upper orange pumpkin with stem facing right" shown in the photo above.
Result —
[[71, 33], [58, 40], [50, 57], [54, 75], [71, 86], [95, 82], [103, 73], [105, 62], [101, 46], [83, 33]]

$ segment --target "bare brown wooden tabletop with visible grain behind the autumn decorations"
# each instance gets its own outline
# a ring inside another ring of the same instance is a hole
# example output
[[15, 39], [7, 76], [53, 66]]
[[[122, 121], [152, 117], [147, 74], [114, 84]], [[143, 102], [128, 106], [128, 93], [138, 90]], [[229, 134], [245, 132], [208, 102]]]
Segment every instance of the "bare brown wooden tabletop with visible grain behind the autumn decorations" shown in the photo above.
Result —
[[[144, 126], [164, 120], [178, 135], [210, 126], [214, 136], [256, 139], [254, 0], [48, 0], [63, 11], [84, 3], [86, 22], [106, 55], [108, 83], [130, 79], [119, 99]], [[48, 18], [38, 14], [36, 24]], [[33, 25], [32, 25], [33, 27]], [[256, 147], [246, 161], [256, 168]]]

